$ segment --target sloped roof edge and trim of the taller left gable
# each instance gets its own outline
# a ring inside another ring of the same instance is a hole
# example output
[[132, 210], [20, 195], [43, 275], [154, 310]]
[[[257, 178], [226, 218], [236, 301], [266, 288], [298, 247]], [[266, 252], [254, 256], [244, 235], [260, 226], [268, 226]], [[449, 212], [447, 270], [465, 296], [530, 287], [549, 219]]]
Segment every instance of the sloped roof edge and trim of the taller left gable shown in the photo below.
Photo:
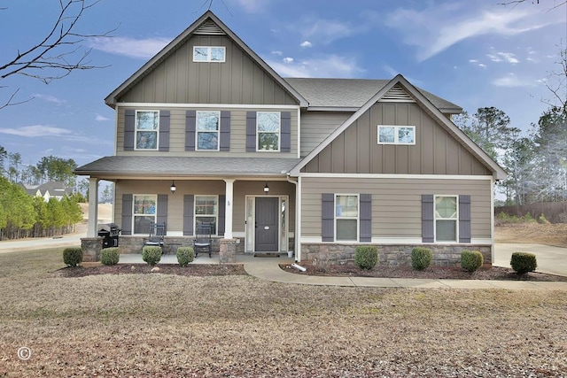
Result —
[[284, 81], [283, 78], [274, 71], [274, 69], [266, 62], [264, 62], [252, 49], [250, 49], [245, 42], [243, 42], [237, 35], [235, 35], [232, 30], [229, 29], [221, 19], [217, 18], [213, 12], [207, 11], [201, 17], [199, 17], [195, 22], [193, 22], [190, 27], [186, 28], [181, 35], [178, 35], [172, 42], [169, 42], [166, 47], [164, 47], [158, 54], [151, 58], [144, 66], [136, 71], [132, 76], [130, 76], [126, 81], [124, 81], [117, 89], [106, 96], [105, 104], [114, 108], [117, 103], [117, 99], [126, 93], [129, 89], [134, 87], [138, 81], [141, 81], [144, 76], [156, 67], [159, 66], [167, 57], [169, 57], [175, 50], [179, 49], [184, 42], [186, 42], [192, 35], [196, 33], [199, 34], [214, 34], [214, 35], [227, 35], [232, 42], [236, 43], [238, 47], [245, 51], [250, 58], [257, 63], [264, 71], [266, 71], [276, 82], [278, 82], [283, 89], [285, 89], [289, 94], [297, 99], [299, 106], [307, 107], [307, 100], [299, 94], [299, 92], [291, 87], [291, 85]]

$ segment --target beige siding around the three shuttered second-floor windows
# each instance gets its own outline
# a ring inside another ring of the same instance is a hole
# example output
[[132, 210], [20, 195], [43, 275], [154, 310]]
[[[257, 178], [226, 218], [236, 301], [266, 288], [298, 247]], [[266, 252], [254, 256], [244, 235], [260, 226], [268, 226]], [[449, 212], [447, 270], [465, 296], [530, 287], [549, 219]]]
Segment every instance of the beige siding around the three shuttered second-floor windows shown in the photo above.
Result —
[[[256, 112], [258, 109], [237, 109], [227, 107], [207, 107], [198, 108], [167, 108], [169, 112], [169, 150], [124, 150], [124, 127], [125, 127], [125, 107], [118, 107], [116, 112], [118, 117], [116, 134], [116, 156], [148, 156], [155, 154], [159, 156], [191, 156], [191, 157], [229, 157], [229, 158], [252, 158], [261, 156], [274, 158], [297, 158], [298, 153], [298, 112], [293, 109], [270, 108], [261, 109], [260, 112], [289, 112], [291, 113], [291, 150], [290, 152], [246, 152], [246, 112]], [[132, 109], [132, 108], [129, 108]], [[148, 107], [138, 107], [138, 111], [160, 110], [159, 104]], [[185, 125], [187, 111], [204, 112], [230, 112], [230, 145], [228, 151], [186, 151], [185, 150]]]

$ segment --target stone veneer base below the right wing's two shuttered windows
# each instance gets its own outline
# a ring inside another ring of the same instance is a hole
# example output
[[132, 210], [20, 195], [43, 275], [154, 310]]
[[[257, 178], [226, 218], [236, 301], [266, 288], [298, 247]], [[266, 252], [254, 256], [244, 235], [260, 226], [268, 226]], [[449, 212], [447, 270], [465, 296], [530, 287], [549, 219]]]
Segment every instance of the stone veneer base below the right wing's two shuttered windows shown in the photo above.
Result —
[[[411, 251], [414, 247], [429, 248], [433, 252], [433, 264], [436, 266], [460, 266], [462, 251], [480, 251], [484, 258], [484, 266], [492, 266], [492, 246], [486, 244], [379, 244], [377, 245], [378, 265], [411, 266]], [[301, 261], [309, 261], [314, 265], [323, 266], [335, 264], [353, 265], [355, 249], [356, 245], [352, 244], [304, 243], [301, 244]]]

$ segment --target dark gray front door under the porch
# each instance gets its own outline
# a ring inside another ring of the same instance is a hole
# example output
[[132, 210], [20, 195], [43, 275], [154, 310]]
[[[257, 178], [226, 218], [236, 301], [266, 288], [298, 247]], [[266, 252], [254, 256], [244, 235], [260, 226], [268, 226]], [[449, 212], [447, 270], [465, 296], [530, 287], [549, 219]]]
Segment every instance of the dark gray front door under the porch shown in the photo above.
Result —
[[256, 197], [255, 244], [256, 251], [279, 251], [278, 197]]

